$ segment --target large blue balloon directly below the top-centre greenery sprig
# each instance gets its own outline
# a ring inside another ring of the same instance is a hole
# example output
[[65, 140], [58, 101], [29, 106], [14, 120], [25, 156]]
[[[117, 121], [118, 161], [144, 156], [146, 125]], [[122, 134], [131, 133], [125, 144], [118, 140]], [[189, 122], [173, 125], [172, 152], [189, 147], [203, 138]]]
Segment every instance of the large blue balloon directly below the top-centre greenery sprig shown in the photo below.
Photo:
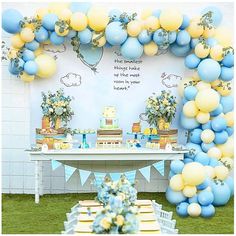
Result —
[[[121, 45], [127, 39], [127, 31], [122, 28], [122, 25], [120, 22], [115, 21], [115, 22], [111, 22], [106, 27], [105, 36], [106, 36], [107, 42], [110, 43], [111, 45]], [[135, 40], [137, 39], [133, 38], [133, 39], [130, 39], [129, 41], [135, 41]], [[129, 44], [129, 47], [130, 47], [131, 43], [129, 43], [129, 41], [127, 42], [127, 44]]]

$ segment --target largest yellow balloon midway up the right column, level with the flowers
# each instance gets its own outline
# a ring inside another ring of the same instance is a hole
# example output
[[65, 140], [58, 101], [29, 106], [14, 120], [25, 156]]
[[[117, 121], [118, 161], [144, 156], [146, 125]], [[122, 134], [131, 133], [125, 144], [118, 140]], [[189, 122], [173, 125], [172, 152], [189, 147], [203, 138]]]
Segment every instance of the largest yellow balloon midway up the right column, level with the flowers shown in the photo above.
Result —
[[211, 112], [219, 106], [220, 96], [214, 89], [204, 89], [197, 93], [195, 102], [199, 110]]

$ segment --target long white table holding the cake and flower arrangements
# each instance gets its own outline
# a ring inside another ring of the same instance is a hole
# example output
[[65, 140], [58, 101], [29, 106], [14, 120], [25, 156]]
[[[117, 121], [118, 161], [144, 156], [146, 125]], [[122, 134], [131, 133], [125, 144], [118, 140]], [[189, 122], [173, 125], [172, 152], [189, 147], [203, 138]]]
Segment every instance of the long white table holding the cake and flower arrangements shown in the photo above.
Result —
[[35, 161], [35, 203], [39, 203], [39, 196], [43, 195], [42, 161], [161, 161], [182, 160], [184, 151], [166, 151], [147, 148], [128, 149], [72, 149], [49, 150], [47, 152], [28, 151], [31, 161]]

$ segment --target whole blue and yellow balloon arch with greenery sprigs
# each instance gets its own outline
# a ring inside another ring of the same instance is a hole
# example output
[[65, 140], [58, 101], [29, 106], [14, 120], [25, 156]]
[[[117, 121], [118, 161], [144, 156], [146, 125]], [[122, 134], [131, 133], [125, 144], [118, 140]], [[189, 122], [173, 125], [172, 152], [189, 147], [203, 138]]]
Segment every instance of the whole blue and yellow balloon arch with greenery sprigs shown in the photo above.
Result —
[[[119, 10], [107, 13], [89, 3], [51, 4], [35, 16], [23, 17], [15, 9], [2, 14], [2, 28], [13, 34], [8, 53], [9, 71], [24, 82], [51, 77], [54, 58], [42, 45], [71, 40], [94, 48], [120, 46], [128, 60], [154, 56], [170, 49], [185, 57], [185, 66], [196, 70], [179, 85], [183, 97], [180, 124], [189, 131], [183, 161], [172, 161], [167, 200], [180, 216], [211, 217], [214, 206], [225, 205], [233, 195], [233, 96], [234, 51], [229, 33], [218, 27], [222, 14], [209, 7], [189, 19], [175, 9], [144, 10], [141, 18]], [[218, 27], [218, 28], [217, 28]]]

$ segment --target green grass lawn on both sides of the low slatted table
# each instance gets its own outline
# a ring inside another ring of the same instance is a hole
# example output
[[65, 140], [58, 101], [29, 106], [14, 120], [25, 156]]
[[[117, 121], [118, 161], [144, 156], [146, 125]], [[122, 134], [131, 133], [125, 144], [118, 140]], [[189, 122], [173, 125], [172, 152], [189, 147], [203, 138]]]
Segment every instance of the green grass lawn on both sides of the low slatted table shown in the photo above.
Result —
[[[2, 195], [3, 234], [59, 234], [63, 230], [66, 213], [78, 200], [94, 199], [95, 193], [44, 195], [40, 204], [34, 195]], [[180, 234], [233, 234], [233, 198], [224, 207], [217, 207], [213, 218], [181, 218], [175, 207], [167, 202], [164, 193], [139, 193], [139, 199], [156, 200], [163, 209], [173, 211]]]

